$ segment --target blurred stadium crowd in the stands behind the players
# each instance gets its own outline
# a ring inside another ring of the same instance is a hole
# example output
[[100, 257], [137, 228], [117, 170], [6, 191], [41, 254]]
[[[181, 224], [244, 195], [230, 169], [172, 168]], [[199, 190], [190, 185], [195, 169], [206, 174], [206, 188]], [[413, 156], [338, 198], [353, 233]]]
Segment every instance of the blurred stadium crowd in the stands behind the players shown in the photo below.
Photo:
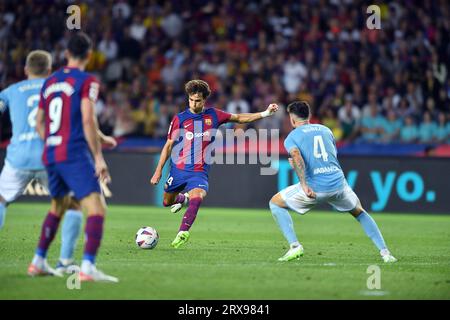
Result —
[[[0, 88], [35, 49], [64, 64], [71, 1], [0, 2]], [[381, 8], [381, 29], [366, 8]], [[80, 1], [104, 87], [105, 134], [165, 137], [189, 79], [211, 105], [257, 112], [306, 100], [338, 141], [450, 143], [450, 16], [441, 1]], [[49, 18], [51, 17], [51, 18]], [[242, 127], [242, 125], [239, 125]], [[290, 131], [285, 112], [255, 124]], [[8, 137], [3, 117], [0, 138]]]

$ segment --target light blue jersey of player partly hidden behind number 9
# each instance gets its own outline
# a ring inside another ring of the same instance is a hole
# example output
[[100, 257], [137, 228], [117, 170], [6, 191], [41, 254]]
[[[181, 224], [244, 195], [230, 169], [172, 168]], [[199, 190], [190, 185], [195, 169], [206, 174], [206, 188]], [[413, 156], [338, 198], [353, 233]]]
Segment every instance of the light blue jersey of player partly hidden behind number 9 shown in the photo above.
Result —
[[44, 170], [44, 143], [36, 132], [39, 94], [45, 79], [15, 83], [0, 92], [0, 111], [9, 109], [12, 138], [6, 160], [15, 169]]

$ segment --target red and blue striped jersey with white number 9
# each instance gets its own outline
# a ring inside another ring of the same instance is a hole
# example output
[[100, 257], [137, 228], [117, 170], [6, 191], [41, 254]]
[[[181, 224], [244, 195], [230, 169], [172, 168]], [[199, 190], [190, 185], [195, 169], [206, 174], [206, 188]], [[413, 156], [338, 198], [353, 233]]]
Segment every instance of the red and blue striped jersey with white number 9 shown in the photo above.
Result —
[[96, 102], [98, 91], [97, 79], [77, 68], [64, 67], [44, 82], [39, 101], [39, 108], [45, 112], [44, 164], [73, 161], [89, 154], [81, 100]]

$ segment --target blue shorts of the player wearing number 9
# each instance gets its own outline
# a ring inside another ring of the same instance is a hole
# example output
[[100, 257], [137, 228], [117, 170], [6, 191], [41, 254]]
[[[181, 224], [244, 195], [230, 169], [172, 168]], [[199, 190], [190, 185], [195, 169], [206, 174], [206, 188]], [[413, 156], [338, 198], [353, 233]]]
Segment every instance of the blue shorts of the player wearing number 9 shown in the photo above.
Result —
[[60, 162], [46, 166], [48, 188], [52, 198], [62, 198], [73, 191], [81, 200], [93, 192], [101, 193], [94, 163], [85, 158], [73, 162]]

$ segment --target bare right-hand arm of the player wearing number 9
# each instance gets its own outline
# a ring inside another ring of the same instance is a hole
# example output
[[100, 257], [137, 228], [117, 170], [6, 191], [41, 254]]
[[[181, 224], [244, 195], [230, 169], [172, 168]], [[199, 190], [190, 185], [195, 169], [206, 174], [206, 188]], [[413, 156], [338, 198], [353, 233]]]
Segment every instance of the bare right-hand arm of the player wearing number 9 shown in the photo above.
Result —
[[95, 161], [95, 173], [103, 182], [110, 182], [108, 166], [103, 158], [100, 137], [98, 135], [97, 118], [94, 112], [94, 102], [89, 98], [81, 100], [81, 113], [83, 118], [83, 131], [89, 150]]

